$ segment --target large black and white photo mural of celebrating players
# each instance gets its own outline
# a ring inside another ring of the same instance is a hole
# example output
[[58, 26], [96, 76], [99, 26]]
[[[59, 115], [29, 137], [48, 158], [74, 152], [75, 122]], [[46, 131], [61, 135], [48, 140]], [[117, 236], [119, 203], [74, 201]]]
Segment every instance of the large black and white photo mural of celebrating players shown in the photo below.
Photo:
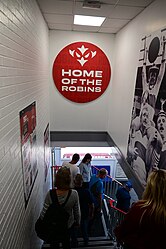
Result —
[[166, 169], [166, 28], [141, 40], [127, 161], [143, 186]]

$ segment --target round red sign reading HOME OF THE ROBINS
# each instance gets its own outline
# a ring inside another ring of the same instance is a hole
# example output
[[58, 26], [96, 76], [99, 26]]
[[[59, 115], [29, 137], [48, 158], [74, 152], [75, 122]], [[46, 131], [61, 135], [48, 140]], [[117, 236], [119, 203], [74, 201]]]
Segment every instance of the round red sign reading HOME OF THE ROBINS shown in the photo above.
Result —
[[96, 45], [75, 42], [55, 58], [53, 79], [58, 91], [70, 101], [87, 103], [107, 89], [111, 67], [107, 56]]

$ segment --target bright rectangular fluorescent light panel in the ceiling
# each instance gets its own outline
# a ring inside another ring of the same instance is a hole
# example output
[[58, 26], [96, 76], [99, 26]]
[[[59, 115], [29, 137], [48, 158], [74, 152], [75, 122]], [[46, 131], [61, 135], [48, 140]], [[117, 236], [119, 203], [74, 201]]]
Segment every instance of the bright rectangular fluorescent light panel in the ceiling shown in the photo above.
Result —
[[86, 26], [101, 26], [105, 17], [74, 15], [74, 24]]

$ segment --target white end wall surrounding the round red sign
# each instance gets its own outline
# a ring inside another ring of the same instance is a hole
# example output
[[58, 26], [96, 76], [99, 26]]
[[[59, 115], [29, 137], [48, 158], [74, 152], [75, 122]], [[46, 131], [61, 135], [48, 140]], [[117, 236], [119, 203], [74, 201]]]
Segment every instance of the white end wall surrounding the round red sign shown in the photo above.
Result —
[[[107, 131], [110, 91], [114, 73], [114, 37], [76, 31], [50, 30], [50, 122], [51, 131]], [[111, 65], [111, 81], [98, 99], [88, 103], [75, 103], [63, 97], [57, 90], [52, 67], [58, 53], [74, 42], [89, 42], [98, 46], [107, 56]]]

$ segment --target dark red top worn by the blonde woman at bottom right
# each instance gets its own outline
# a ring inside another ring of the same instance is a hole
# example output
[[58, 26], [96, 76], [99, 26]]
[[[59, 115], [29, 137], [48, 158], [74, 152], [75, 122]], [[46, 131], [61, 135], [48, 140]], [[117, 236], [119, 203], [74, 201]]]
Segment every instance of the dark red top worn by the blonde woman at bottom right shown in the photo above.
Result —
[[166, 249], [166, 225], [156, 225], [149, 211], [150, 207], [134, 204], [114, 230], [117, 240], [132, 249]]

